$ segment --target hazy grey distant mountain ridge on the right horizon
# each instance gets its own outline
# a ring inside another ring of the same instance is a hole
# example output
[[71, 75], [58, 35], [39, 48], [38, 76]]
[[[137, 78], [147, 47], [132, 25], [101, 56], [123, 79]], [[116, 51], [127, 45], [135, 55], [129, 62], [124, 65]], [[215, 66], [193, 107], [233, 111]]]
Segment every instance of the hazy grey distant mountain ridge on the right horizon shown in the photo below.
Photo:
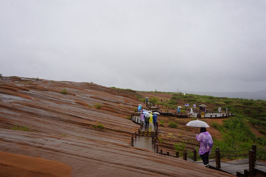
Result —
[[266, 89], [256, 92], [193, 92], [193, 91], [180, 91], [180, 92], [196, 94], [196, 95], [217, 96], [217, 97], [266, 100]]

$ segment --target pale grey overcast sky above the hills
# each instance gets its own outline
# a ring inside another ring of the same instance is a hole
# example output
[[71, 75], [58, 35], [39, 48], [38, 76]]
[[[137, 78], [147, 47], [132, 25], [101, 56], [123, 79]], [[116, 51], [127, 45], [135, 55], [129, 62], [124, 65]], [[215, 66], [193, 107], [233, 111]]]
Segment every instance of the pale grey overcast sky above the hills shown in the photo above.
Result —
[[0, 73], [139, 91], [266, 89], [265, 0], [0, 0]]

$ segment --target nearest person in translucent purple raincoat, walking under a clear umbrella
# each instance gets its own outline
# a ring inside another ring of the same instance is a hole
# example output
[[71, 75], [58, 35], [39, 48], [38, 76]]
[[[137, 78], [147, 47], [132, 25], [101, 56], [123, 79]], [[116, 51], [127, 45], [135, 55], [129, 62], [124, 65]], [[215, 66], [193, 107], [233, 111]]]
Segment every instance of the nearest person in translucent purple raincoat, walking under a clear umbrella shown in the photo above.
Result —
[[199, 155], [206, 167], [209, 165], [209, 155], [213, 146], [212, 137], [206, 132], [206, 127], [200, 127], [200, 134], [197, 134], [196, 138], [200, 142]]

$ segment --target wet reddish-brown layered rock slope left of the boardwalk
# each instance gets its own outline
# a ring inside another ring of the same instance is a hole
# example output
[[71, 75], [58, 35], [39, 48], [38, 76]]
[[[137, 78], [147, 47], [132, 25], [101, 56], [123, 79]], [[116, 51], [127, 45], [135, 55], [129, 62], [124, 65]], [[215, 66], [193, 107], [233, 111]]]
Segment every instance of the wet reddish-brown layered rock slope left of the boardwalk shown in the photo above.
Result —
[[137, 104], [96, 84], [1, 77], [0, 176], [231, 176], [131, 147]]

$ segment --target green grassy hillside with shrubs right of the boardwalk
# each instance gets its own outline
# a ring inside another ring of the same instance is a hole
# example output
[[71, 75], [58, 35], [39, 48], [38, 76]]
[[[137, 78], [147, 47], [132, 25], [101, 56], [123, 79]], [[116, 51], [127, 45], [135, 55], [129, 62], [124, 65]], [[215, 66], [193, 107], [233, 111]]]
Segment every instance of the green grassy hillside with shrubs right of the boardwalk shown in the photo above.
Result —
[[[266, 147], [266, 101], [264, 100], [247, 100], [227, 97], [202, 96], [183, 93], [172, 94], [170, 100], [161, 102], [159, 98], [151, 98], [155, 104], [164, 105], [172, 109], [182, 106], [181, 111], [186, 112], [184, 104], [189, 104], [188, 111], [196, 104], [195, 112], [200, 111], [199, 105], [205, 104], [207, 111], [218, 113], [218, 107], [222, 109], [222, 113], [232, 112], [235, 116], [228, 118], [223, 123], [213, 122], [210, 126], [219, 130], [222, 136], [218, 140], [214, 139], [214, 149], [219, 147], [224, 151], [238, 151], [248, 149], [253, 144], [258, 148], [265, 149]], [[144, 98], [141, 98], [144, 100]], [[194, 110], [194, 109], [193, 109]], [[256, 130], [256, 134], [254, 131]], [[262, 152], [264, 156], [265, 151]], [[240, 152], [241, 154], [241, 152]], [[234, 159], [235, 157], [230, 157]], [[264, 157], [262, 160], [266, 160]]]

